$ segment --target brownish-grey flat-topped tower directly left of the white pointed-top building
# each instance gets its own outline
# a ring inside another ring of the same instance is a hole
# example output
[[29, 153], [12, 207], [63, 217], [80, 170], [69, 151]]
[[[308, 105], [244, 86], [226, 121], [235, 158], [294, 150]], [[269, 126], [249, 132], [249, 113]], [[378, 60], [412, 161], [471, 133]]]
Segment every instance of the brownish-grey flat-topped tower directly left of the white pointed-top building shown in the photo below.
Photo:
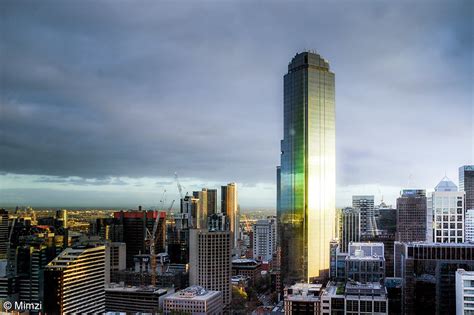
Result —
[[400, 242], [425, 241], [428, 235], [427, 224], [426, 191], [403, 190], [397, 199], [397, 240]]

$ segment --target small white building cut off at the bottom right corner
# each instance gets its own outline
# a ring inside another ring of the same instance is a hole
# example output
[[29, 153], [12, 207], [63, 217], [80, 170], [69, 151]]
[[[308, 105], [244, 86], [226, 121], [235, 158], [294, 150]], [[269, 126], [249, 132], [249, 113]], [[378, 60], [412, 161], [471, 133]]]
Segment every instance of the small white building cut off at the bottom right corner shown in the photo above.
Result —
[[474, 271], [456, 271], [456, 315], [474, 314]]

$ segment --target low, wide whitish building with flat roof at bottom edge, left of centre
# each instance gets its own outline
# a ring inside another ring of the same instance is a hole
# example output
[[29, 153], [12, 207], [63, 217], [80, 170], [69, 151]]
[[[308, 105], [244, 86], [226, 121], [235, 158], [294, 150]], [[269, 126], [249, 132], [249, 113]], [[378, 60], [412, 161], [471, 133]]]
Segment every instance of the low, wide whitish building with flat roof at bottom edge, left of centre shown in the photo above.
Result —
[[165, 314], [222, 314], [222, 292], [191, 286], [164, 298]]

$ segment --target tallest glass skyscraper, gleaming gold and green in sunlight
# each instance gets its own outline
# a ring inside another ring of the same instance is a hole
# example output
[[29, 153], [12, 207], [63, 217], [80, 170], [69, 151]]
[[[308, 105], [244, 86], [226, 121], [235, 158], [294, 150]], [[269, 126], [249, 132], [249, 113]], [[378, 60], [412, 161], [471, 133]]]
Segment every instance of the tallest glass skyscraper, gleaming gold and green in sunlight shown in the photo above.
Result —
[[302, 52], [291, 60], [283, 116], [277, 183], [283, 282], [326, 278], [335, 231], [336, 132], [334, 73], [320, 55]]

